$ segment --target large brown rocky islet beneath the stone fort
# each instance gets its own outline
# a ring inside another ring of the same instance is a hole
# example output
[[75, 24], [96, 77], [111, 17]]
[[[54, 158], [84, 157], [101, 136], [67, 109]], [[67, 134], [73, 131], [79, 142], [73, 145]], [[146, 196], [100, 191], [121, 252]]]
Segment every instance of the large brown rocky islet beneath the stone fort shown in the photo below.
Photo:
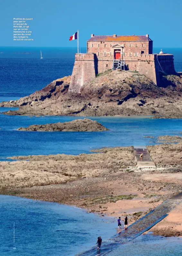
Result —
[[182, 117], [182, 76], [161, 77], [161, 87], [149, 77], [130, 71], [107, 71], [69, 94], [70, 76], [53, 81], [45, 88], [0, 106], [19, 107], [8, 114], [19, 115], [155, 115]]

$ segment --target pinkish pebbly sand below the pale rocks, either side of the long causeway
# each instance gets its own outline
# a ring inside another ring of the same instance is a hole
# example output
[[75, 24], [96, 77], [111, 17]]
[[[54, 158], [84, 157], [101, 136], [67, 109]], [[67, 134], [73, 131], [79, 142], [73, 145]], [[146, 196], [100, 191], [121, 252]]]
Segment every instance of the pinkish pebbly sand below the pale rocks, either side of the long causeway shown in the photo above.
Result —
[[[172, 173], [174, 177], [174, 173]], [[182, 173], [176, 173], [176, 180]], [[169, 174], [170, 176], [170, 174]], [[147, 177], [147, 179], [146, 179]], [[8, 189], [5, 194], [14, 194], [27, 198], [59, 202], [74, 205], [86, 209], [87, 212], [95, 212], [100, 216], [112, 216], [117, 219], [128, 216], [128, 224], [132, 224], [156, 206], [177, 194], [180, 184], [166, 181], [153, 181], [156, 173], [153, 172], [116, 172], [102, 177], [78, 179], [72, 182], [55, 185], [32, 186], [26, 188]], [[163, 173], [158, 173], [158, 178], [162, 179]], [[179, 207], [182, 207], [181, 205]], [[181, 208], [180, 208], [181, 209]], [[178, 210], [173, 210], [173, 212]], [[182, 235], [174, 227], [173, 212], [160, 224], [151, 229], [154, 234], [164, 236]], [[182, 224], [182, 213], [178, 211], [175, 217], [179, 224]], [[169, 232], [169, 229], [171, 232]]]

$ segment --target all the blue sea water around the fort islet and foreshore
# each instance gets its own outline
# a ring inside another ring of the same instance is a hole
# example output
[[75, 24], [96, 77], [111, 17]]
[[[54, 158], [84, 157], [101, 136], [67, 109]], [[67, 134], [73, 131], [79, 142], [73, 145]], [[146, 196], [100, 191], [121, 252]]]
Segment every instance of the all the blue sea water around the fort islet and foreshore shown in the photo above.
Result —
[[[76, 51], [71, 47], [0, 47], [0, 102], [19, 99], [70, 75]], [[85, 53], [86, 48], [80, 51]], [[182, 48], [162, 48], [162, 51], [174, 54], [175, 69], [182, 71]], [[160, 48], [154, 48], [153, 52], [159, 53]], [[105, 132], [23, 132], [17, 128], [78, 117], [8, 116], [3, 114], [7, 110], [0, 108], [0, 161], [18, 155], [77, 155], [100, 147], [142, 148], [158, 144], [160, 135], [182, 132], [182, 119], [151, 119], [150, 116], [90, 117], [110, 129]], [[105, 240], [117, 231], [114, 219], [101, 218], [72, 206], [16, 196], [0, 195], [0, 216], [1, 256], [73, 256], [96, 245], [98, 235]], [[143, 235], [108, 255], [182, 255], [181, 248], [181, 238]]]

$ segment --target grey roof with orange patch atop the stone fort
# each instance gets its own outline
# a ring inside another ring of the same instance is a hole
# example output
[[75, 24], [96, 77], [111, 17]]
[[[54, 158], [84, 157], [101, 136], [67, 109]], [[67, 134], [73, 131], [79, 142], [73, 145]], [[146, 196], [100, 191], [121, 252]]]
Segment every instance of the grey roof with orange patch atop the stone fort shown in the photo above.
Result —
[[88, 41], [152, 41], [149, 35], [92, 35]]

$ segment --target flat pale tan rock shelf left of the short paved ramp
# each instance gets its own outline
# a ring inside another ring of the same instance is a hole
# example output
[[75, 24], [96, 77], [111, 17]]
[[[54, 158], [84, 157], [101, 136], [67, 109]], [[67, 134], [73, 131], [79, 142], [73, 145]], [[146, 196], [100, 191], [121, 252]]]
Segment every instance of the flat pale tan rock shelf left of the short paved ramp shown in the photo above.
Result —
[[107, 148], [105, 153], [80, 155], [29, 155], [9, 157], [28, 161], [0, 162], [2, 188], [20, 188], [65, 183], [81, 177], [98, 177], [135, 166], [131, 147]]

